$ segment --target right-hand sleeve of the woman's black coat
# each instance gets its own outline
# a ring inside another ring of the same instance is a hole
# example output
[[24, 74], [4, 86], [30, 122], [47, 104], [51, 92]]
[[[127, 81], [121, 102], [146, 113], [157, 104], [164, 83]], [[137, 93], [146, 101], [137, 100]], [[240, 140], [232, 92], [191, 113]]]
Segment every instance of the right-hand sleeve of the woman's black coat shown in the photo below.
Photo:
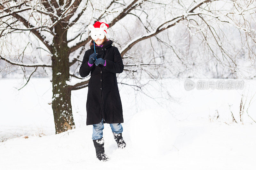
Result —
[[114, 61], [106, 59], [106, 66], [105, 67], [103, 66], [103, 68], [105, 68], [106, 70], [112, 73], [123, 72], [124, 64], [123, 64], [122, 56], [116, 47], [114, 49]]

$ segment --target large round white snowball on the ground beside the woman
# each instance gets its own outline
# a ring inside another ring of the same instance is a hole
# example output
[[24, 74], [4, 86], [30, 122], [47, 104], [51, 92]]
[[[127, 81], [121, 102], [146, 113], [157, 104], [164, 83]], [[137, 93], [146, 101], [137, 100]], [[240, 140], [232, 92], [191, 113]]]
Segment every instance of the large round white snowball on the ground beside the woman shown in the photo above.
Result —
[[166, 109], [143, 110], [131, 119], [130, 138], [138, 152], [151, 156], [169, 152], [177, 135], [175, 120]]

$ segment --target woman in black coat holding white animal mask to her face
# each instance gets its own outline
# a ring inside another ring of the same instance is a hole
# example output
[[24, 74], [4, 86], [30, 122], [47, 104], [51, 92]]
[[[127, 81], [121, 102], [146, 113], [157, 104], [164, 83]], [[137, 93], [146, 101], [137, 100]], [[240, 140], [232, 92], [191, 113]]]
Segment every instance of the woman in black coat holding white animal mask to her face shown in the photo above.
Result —
[[85, 51], [79, 69], [81, 77], [91, 73], [86, 101], [86, 125], [93, 125], [92, 140], [99, 160], [106, 161], [104, 153], [103, 123], [109, 123], [118, 148], [126, 146], [122, 137], [123, 109], [118, 91], [116, 73], [122, 73], [124, 64], [113, 41], [106, 38], [108, 24], [97, 21], [89, 25], [92, 41]]

